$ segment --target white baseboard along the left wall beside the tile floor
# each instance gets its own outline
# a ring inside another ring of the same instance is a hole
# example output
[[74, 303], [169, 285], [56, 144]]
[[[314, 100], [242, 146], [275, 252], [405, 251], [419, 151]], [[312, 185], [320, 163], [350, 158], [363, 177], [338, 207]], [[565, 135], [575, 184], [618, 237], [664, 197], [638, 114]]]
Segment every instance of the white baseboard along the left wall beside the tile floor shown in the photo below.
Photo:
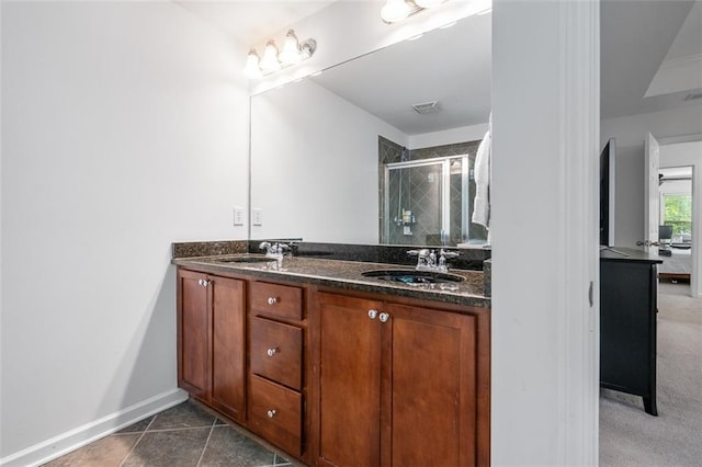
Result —
[[155, 413], [177, 406], [188, 399], [188, 394], [181, 389], [172, 389], [161, 392], [149, 399], [113, 412], [101, 419], [86, 423], [73, 430], [67, 431], [30, 446], [20, 452], [10, 454], [0, 459], [2, 467], [38, 466], [60, 457], [71, 451], [82, 447], [93, 441], [129, 426]]

